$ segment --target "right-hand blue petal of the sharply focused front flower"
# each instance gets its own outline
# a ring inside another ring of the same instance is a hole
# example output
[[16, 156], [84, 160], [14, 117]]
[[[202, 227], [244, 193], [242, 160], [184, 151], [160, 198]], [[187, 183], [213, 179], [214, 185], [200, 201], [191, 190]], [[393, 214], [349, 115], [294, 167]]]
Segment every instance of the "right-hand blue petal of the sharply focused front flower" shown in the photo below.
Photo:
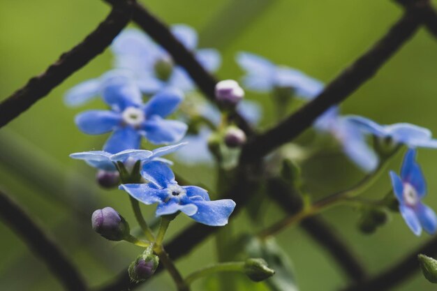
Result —
[[196, 214], [190, 216], [195, 221], [211, 226], [228, 224], [228, 218], [235, 209], [235, 202], [230, 199], [216, 201], [193, 200], [198, 207]]

